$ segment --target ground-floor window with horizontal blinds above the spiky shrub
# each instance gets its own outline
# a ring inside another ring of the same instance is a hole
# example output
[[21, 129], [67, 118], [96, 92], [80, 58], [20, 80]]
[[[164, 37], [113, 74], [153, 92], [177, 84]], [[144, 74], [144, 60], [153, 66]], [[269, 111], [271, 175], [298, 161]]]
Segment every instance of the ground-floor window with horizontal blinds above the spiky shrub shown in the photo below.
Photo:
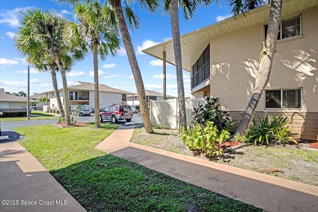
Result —
[[301, 108], [301, 88], [265, 90], [265, 108]]

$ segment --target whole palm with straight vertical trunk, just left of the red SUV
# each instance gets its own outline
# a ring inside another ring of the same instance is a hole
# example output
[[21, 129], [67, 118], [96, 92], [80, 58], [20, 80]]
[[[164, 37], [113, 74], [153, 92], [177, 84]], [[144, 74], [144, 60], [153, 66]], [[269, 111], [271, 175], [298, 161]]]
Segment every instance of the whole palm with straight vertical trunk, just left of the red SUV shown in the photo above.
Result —
[[[98, 55], [101, 60], [111, 54], [115, 56], [120, 49], [118, 31], [111, 27], [107, 4], [100, 5], [98, 1], [77, 3], [75, 5], [75, 15], [79, 19], [79, 25], [72, 24], [71, 27], [77, 28], [79, 36], [86, 40], [88, 49], [93, 52], [94, 64], [94, 107], [95, 107], [95, 128], [100, 128], [99, 119], [99, 84], [98, 84]], [[75, 32], [75, 30], [72, 30]], [[73, 33], [67, 33], [72, 35]], [[72, 40], [72, 39], [69, 39]]]

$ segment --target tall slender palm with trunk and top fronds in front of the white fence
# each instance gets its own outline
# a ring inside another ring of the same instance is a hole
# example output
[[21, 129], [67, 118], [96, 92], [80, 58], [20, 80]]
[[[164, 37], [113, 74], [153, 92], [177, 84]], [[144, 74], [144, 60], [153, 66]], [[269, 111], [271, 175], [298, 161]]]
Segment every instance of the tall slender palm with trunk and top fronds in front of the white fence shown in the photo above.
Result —
[[183, 86], [182, 74], [182, 60], [181, 60], [181, 43], [180, 43], [180, 30], [179, 30], [179, 14], [178, 7], [182, 7], [184, 17], [189, 20], [193, 17], [193, 11], [196, 9], [197, 4], [209, 5], [214, 0], [164, 0], [163, 12], [169, 12], [171, 18], [171, 30], [173, 40], [173, 51], [175, 60], [175, 69], [177, 75], [177, 88], [178, 88], [178, 102], [179, 102], [179, 127], [187, 129], [187, 120], [185, 114], [185, 96]]

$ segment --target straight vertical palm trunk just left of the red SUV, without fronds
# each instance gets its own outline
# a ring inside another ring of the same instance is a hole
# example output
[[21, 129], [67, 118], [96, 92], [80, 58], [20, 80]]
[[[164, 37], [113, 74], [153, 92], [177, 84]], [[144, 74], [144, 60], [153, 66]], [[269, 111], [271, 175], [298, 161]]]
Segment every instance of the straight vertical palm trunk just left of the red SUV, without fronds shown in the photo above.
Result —
[[99, 85], [98, 85], [98, 40], [93, 43], [93, 63], [94, 63], [94, 107], [95, 107], [95, 128], [100, 128], [99, 119]]

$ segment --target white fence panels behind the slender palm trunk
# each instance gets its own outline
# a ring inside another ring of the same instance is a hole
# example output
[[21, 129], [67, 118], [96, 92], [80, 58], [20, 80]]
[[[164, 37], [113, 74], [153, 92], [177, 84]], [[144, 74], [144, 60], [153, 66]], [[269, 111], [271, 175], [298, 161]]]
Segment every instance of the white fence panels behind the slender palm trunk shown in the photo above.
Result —
[[[185, 113], [187, 126], [191, 125], [193, 108], [205, 103], [204, 98], [185, 99]], [[152, 125], [161, 126], [162, 123], [167, 128], [179, 128], [179, 105], [178, 99], [151, 100], [150, 120]]]

